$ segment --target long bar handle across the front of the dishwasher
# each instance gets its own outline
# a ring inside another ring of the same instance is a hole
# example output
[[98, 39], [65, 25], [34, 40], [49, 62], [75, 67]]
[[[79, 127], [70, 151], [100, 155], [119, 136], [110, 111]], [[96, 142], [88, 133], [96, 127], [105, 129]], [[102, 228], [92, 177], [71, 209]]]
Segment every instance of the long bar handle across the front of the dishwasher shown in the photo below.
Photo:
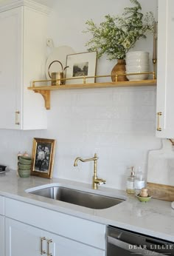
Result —
[[[156, 255], [156, 256], [166, 256], [166, 255], [162, 255], [159, 252], [154, 252], [153, 250], [147, 250], [145, 248], [140, 248], [140, 246], [136, 246], [130, 243], [125, 243], [121, 240], [118, 240], [116, 238], [112, 238], [110, 236], [108, 236], [108, 243], [113, 244], [114, 246], [117, 246], [119, 248], [125, 249], [126, 251], [131, 252], [132, 254], [136, 254], [136, 255]], [[142, 246], [143, 247], [143, 246]], [[145, 246], [144, 246], [145, 247]]]

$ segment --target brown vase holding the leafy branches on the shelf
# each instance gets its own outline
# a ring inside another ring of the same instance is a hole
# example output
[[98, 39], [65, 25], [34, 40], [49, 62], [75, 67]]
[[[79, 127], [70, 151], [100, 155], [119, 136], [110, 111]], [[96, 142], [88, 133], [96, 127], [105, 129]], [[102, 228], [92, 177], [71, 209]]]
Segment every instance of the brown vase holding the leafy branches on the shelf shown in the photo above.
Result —
[[117, 81], [128, 81], [128, 78], [126, 78], [125, 75], [119, 75], [119, 74], [125, 74], [125, 59], [118, 59], [116, 65], [113, 67], [111, 71], [111, 79], [113, 82], [116, 81], [116, 75], [118, 75]]

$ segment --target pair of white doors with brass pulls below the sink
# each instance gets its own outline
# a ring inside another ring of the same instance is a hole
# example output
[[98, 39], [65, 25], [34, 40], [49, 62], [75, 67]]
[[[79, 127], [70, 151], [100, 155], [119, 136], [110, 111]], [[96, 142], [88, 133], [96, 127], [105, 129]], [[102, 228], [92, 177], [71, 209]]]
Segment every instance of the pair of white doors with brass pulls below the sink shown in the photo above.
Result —
[[5, 219], [5, 250], [6, 256], [36, 256], [43, 252], [52, 256], [105, 256], [105, 251], [101, 249], [10, 218]]

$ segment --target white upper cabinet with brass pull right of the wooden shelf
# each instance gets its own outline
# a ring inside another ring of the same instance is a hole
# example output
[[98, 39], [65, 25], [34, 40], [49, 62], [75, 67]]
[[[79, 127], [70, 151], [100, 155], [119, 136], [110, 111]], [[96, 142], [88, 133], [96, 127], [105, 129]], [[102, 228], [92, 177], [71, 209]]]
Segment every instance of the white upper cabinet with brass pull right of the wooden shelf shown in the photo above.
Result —
[[174, 1], [159, 0], [156, 136], [174, 138]]

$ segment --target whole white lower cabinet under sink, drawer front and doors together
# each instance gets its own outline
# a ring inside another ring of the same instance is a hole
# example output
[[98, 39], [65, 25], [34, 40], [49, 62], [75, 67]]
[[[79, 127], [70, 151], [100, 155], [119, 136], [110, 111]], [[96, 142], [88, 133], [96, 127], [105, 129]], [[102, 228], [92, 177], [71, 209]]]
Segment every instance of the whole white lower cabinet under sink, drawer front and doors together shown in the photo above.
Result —
[[105, 256], [105, 232], [104, 224], [5, 198], [5, 256]]

